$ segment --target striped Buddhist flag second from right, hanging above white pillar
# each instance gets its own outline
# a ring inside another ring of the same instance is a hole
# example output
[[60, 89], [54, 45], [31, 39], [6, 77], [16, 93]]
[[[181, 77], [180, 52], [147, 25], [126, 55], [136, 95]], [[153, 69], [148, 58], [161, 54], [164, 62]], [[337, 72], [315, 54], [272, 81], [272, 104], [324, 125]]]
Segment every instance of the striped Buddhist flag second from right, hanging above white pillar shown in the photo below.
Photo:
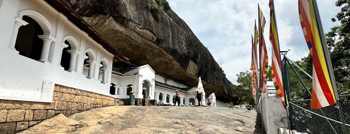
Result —
[[272, 44], [272, 81], [276, 88], [279, 99], [282, 102], [284, 108], [288, 108], [288, 101], [286, 99], [285, 90], [283, 89], [283, 78], [282, 78], [282, 67], [281, 67], [281, 56], [279, 51], [279, 40], [276, 26], [276, 16], [274, 12], [273, 0], [269, 2], [270, 6], [270, 41]]

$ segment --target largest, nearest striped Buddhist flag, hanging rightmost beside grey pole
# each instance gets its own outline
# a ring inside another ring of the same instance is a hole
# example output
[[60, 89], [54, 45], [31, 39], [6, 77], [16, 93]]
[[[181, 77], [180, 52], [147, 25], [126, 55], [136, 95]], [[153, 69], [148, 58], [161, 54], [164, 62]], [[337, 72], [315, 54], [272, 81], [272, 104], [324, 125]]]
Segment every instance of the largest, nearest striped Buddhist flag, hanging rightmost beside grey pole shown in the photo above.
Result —
[[301, 28], [312, 56], [311, 109], [318, 109], [336, 101], [334, 74], [317, 3], [314, 0], [298, 0], [298, 6]]

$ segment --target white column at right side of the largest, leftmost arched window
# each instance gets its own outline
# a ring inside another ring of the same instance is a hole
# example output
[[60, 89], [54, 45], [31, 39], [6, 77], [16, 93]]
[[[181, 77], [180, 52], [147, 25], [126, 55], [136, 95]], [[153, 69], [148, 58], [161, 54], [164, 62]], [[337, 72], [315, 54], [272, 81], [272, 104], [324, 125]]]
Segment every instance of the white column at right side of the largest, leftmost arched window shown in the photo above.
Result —
[[50, 45], [56, 41], [56, 38], [51, 35], [38, 35], [39, 38], [43, 39], [43, 49], [39, 61], [49, 62]]

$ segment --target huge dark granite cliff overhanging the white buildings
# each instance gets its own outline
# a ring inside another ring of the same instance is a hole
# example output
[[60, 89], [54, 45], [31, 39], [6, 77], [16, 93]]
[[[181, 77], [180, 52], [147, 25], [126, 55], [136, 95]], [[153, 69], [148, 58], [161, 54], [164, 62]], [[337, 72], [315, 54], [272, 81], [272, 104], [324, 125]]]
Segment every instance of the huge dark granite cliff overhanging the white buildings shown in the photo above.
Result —
[[[205, 91], [232, 101], [232, 83], [209, 50], [171, 9], [155, 0], [63, 0], [129, 61], [190, 86], [201, 76]], [[165, 0], [160, 0], [163, 3]], [[148, 4], [159, 9], [152, 16]]]

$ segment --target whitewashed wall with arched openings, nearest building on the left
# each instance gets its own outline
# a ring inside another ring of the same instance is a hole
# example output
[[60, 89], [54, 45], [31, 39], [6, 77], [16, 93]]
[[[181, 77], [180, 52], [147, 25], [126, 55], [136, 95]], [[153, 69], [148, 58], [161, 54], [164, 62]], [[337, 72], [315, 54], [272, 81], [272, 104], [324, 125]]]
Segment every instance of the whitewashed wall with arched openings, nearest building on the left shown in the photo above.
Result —
[[[12, 33], [15, 18], [21, 18], [21, 12], [24, 11], [35, 12], [47, 19], [48, 23], [39, 23], [46, 24], [50, 30], [48, 34], [56, 38], [56, 41], [51, 44], [49, 62], [40, 62], [19, 55], [19, 51], [9, 48], [11, 37], [14, 36]], [[105, 57], [109, 61], [107, 77], [111, 77], [113, 55], [44, 0], [4, 0], [0, 8], [0, 28], [2, 29], [0, 30], [0, 49], [2, 50], [0, 99], [51, 102], [55, 83], [111, 95], [109, 94], [110, 79], [106, 83], [101, 83], [98, 79], [98, 67], [95, 68], [94, 78], [89, 79], [83, 75], [83, 56], [87, 48], [93, 49], [96, 65], [100, 63], [102, 57]], [[73, 36], [79, 46], [77, 72], [66, 71], [60, 65], [61, 44], [64, 43], [63, 38], [67, 35]]]

